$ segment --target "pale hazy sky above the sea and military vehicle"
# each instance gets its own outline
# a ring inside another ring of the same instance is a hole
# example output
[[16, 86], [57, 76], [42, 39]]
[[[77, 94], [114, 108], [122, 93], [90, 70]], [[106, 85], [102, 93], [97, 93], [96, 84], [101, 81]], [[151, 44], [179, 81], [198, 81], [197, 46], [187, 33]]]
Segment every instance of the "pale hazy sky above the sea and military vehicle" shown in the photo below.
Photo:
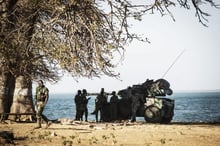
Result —
[[206, 10], [211, 14], [208, 27], [199, 23], [193, 10], [179, 8], [172, 10], [175, 22], [170, 16], [159, 14], [134, 22], [132, 31], [147, 36], [151, 43], [133, 41], [125, 46], [125, 58], [115, 68], [120, 79], [102, 76], [76, 82], [65, 75], [56, 84], [45, 84], [50, 93], [75, 93], [78, 89], [97, 93], [102, 87], [112, 92], [143, 83], [147, 78], [164, 77], [174, 92], [220, 90], [220, 9]]

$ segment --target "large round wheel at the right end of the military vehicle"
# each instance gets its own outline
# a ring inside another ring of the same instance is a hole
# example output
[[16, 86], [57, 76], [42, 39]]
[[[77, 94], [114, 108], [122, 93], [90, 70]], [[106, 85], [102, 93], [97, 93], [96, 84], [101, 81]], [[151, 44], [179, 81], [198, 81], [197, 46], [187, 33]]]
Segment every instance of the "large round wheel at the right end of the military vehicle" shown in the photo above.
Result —
[[144, 118], [146, 122], [160, 123], [161, 122], [161, 110], [156, 106], [149, 106], [145, 109]]

